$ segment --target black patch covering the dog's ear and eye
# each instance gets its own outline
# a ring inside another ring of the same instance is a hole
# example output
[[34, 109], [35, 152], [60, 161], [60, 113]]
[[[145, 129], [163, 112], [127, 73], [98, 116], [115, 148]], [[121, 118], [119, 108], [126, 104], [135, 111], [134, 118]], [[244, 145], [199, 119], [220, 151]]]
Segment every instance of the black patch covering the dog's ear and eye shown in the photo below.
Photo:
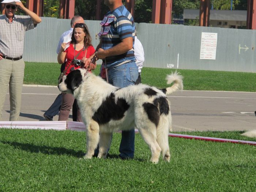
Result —
[[74, 87], [78, 87], [83, 81], [82, 74], [80, 70], [71, 71], [65, 79], [67, 88], [74, 93]]

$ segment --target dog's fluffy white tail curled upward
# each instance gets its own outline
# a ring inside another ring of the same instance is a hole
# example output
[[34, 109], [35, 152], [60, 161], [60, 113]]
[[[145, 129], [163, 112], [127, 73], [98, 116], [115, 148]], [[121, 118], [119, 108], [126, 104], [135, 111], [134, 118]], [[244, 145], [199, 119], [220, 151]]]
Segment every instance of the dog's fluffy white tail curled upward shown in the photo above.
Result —
[[174, 73], [172, 72], [172, 74], [170, 75], [167, 75], [166, 80], [167, 84], [171, 84], [174, 82], [171, 87], [166, 88], [166, 95], [170, 95], [177, 90], [183, 89], [183, 76], [181, 76], [177, 71], [175, 71]]

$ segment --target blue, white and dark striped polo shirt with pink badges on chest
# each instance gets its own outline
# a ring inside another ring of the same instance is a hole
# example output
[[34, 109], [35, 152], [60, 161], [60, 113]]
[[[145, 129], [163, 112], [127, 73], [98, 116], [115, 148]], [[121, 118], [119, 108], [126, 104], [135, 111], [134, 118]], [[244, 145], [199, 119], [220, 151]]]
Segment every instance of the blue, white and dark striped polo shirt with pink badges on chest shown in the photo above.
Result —
[[[117, 56], [106, 57], [107, 68], [114, 67], [124, 61], [135, 61], [134, 57], [134, 39], [135, 39], [135, 23], [131, 13], [124, 5], [116, 8], [114, 11], [109, 11], [105, 16], [101, 25], [99, 37], [101, 38], [104, 50], [110, 49], [119, 44], [122, 39], [127, 37], [133, 38], [133, 48], [124, 54]], [[103, 60], [103, 62], [105, 62]]]

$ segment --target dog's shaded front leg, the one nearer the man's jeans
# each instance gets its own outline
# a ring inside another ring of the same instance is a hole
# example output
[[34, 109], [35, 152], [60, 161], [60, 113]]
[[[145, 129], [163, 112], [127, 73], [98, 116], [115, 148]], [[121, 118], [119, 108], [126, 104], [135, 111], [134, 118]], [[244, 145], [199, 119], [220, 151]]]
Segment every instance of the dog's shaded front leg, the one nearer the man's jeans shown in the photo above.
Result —
[[101, 133], [99, 135], [99, 154], [98, 158], [106, 158], [112, 140], [112, 133]]

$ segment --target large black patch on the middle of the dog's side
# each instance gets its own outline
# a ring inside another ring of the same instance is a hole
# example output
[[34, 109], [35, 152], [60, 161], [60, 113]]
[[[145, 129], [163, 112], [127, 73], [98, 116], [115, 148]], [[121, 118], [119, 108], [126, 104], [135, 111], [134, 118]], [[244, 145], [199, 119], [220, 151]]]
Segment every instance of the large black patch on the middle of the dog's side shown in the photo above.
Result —
[[129, 105], [125, 99], [119, 98], [115, 102], [115, 95], [111, 93], [94, 113], [93, 120], [99, 124], [108, 123], [110, 120], [120, 120], [128, 109]]

